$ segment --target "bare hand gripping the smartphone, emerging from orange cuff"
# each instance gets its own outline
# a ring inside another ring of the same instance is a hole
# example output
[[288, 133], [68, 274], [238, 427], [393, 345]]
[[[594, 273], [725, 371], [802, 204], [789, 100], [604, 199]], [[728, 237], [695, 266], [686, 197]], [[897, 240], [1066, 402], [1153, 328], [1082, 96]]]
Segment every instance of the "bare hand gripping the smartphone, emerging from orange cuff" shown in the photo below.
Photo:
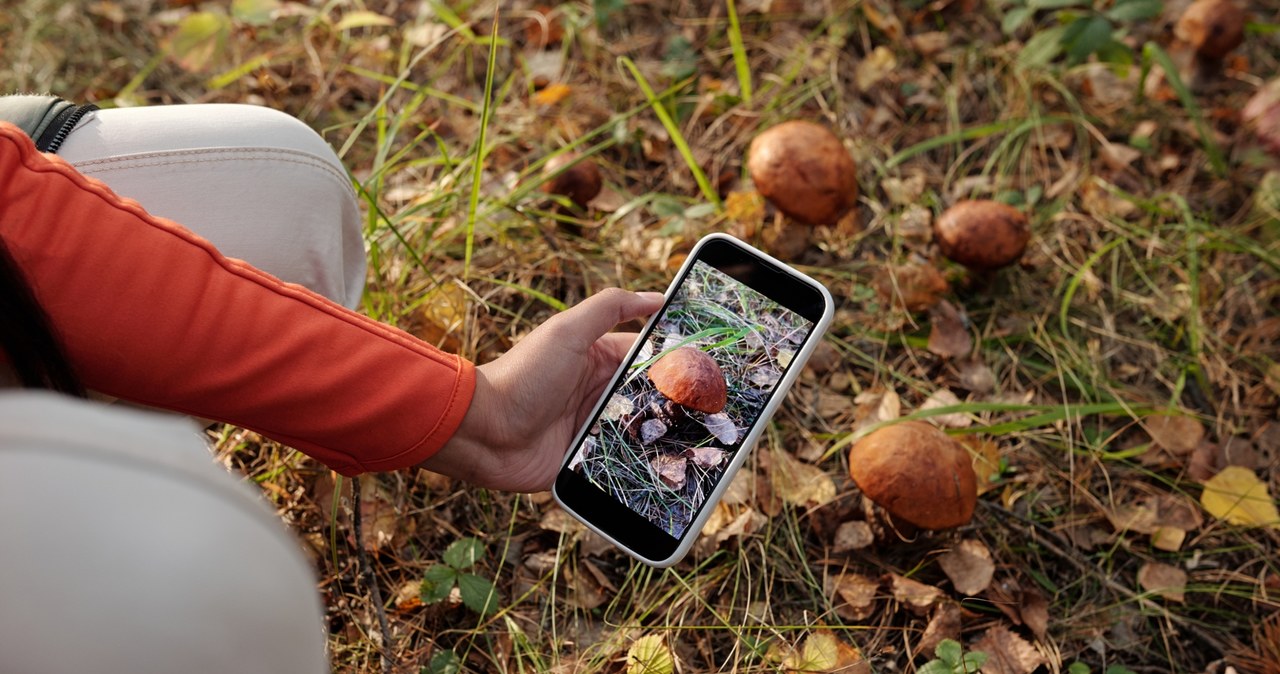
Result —
[[476, 389], [453, 437], [419, 467], [504, 491], [552, 486], [588, 414], [636, 335], [616, 325], [662, 307], [660, 293], [609, 288], [538, 326], [476, 367]]

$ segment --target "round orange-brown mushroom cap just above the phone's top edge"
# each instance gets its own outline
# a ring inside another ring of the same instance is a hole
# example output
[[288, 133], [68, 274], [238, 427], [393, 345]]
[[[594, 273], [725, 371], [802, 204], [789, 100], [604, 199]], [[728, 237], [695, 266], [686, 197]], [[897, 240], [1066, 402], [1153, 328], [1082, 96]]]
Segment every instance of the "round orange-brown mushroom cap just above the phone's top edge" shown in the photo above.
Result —
[[794, 119], [751, 141], [746, 169], [777, 208], [810, 225], [832, 224], [858, 201], [858, 168], [827, 127]]

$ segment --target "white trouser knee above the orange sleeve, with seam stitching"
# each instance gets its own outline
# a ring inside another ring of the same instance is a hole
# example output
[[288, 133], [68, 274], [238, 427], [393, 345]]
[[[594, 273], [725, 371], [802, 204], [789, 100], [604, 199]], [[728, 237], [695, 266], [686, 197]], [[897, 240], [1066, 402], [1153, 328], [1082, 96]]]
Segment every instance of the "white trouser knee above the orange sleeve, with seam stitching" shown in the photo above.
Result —
[[365, 248], [351, 180], [302, 121], [252, 105], [99, 110], [58, 151], [152, 215], [347, 307]]

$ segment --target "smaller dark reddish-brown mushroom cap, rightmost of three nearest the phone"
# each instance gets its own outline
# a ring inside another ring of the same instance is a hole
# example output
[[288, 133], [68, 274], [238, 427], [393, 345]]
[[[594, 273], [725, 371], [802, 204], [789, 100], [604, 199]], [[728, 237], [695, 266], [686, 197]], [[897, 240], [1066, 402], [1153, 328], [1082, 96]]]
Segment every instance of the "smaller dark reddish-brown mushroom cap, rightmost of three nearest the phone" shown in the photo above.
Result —
[[972, 269], [1016, 262], [1030, 238], [1027, 216], [998, 201], [961, 201], [933, 223], [933, 239], [942, 255]]

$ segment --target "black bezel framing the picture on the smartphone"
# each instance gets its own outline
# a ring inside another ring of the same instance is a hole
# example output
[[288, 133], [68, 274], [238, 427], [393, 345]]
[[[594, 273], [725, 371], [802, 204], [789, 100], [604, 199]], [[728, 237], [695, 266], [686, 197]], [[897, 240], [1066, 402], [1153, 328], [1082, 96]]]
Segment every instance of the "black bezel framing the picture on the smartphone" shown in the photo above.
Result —
[[[691, 255], [695, 256], [694, 260], [685, 265], [680, 276], [672, 283], [672, 292], [668, 293], [667, 301], [655, 313], [655, 318], [667, 311], [671, 299], [676, 295], [675, 289], [687, 280], [690, 271], [694, 269], [694, 262], [701, 261], [806, 318], [812, 324], [812, 327], [809, 334], [805, 335], [804, 343], [813, 339], [813, 331], [818, 329], [827, 311], [827, 295], [813, 281], [787, 271], [785, 267], [760, 257], [759, 253], [728, 238], [709, 239]], [[657, 321], [650, 321], [640, 340], [649, 336], [655, 324]], [[635, 357], [636, 353], [630, 354], [621, 372], [625, 372], [630, 367]], [[605, 399], [617, 389], [621, 379], [621, 376], [617, 376], [609, 382], [604, 394]], [[765, 405], [777, 394], [778, 390], [774, 389]], [[586, 427], [595, 423], [599, 413], [600, 405], [593, 412]], [[685, 538], [698, 536], [700, 527], [689, 527], [681, 538], [671, 536], [639, 513], [623, 505], [603, 489], [593, 485], [588, 478], [568, 469], [568, 462], [584, 439], [585, 432], [575, 439], [556, 477], [556, 495], [566, 508], [590, 519], [595, 527], [605, 532], [618, 545], [650, 561], [669, 559], [680, 549]], [[749, 448], [744, 446], [744, 449]], [[726, 474], [726, 477], [730, 476]], [[714, 504], [708, 503], [703, 508], [709, 505]], [[696, 521], [700, 514], [701, 509], [695, 513], [694, 519]]]

